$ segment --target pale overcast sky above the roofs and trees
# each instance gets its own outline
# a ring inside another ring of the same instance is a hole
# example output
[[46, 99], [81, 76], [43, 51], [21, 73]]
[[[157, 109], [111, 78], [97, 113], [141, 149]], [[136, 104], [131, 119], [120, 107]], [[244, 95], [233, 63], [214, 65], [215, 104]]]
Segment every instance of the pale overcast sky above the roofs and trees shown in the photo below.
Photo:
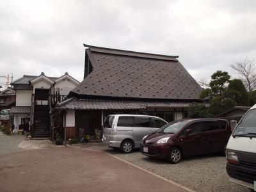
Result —
[[231, 63], [256, 59], [256, 1], [1, 0], [0, 76], [68, 72], [81, 81], [83, 43], [179, 55], [195, 78], [235, 77]]

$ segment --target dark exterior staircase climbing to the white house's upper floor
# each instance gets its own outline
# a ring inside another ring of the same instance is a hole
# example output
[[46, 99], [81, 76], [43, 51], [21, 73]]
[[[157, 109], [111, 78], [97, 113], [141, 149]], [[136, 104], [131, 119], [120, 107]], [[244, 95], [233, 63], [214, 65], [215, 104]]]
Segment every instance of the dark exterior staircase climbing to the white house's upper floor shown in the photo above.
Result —
[[51, 117], [49, 105], [35, 105], [34, 124], [31, 130], [33, 138], [49, 138], [51, 136]]

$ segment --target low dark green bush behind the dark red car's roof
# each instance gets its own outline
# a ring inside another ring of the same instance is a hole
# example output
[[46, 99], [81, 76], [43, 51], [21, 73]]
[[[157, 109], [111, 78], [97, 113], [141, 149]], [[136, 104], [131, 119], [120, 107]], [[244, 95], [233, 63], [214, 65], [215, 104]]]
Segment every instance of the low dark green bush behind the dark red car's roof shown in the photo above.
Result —
[[203, 103], [193, 102], [188, 107], [189, 118], [209, 118], [212, 117], [208, 112], [208, 108]]

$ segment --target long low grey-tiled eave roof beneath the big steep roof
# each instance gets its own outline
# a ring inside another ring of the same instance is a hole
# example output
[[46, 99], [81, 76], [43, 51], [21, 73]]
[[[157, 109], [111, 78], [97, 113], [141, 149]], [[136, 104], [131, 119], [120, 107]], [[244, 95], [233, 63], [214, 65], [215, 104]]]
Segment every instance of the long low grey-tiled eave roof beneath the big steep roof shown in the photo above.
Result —
[[189, 102], [159, 102], [136, 100], [76, 99], [61, 102], [56, 109], [146, 109], [146, 108], [186, 108]]

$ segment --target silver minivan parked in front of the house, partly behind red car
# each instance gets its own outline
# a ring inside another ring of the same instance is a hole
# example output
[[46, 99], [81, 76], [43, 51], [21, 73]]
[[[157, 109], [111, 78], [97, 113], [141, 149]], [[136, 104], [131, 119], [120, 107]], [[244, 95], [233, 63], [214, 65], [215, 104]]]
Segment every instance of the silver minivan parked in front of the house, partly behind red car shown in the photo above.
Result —
[[144, 136], [167, 124], [162, 118], [148, 115], [109, 115], [106, 119], [102, 141], [124, 153], [140, 148]]

